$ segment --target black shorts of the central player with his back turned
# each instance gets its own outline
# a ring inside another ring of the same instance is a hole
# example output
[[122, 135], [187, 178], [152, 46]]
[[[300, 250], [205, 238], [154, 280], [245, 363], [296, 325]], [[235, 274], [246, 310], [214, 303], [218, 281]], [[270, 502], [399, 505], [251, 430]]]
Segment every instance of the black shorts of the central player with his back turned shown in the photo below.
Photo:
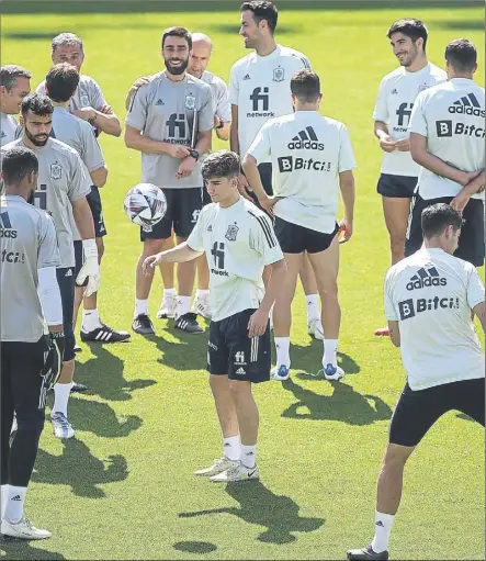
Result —
[[318, 254], [325, 251], [331, 245], [339, 231], [339, 225], [336, 224], [331, 234], [323, 234], [276, 217], [274, 229], [284, 254], [303, 254], [304, 251]]

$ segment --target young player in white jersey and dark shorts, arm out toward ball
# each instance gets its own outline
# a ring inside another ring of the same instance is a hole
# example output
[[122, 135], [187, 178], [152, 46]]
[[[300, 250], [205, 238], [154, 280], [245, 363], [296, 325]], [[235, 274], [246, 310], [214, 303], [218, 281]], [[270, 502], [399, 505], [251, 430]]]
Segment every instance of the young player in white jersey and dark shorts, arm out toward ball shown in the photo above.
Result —
[[[259, 476], [259, 412], [252, 384], [270, 379], [269, 313], [286, 265], [269, 217], [239, 194], [238, 156], [218, 150], [207, 157], [202, 172], [213, 203], [204, 206], [185, 243], [148, 257], [144, 270], [206, 254], [213, 311], [207, 370], [224, 456], [195, 474], [216, 482], [245, 481]], [[265, 266], [271, 267], [267, 291]]]

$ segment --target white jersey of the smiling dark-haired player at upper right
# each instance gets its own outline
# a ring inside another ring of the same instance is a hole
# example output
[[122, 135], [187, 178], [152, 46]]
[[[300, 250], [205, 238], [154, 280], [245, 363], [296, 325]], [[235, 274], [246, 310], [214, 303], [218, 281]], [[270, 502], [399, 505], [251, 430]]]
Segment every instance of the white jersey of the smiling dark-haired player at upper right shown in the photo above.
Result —
[[[445, 71], [430, 63], [418, 72], [409, 72], [400, 66], [383, 78], [373, 111], [373, 120], [385, 123], [388, 127], [388, 135], [394, 141], [408, 138], [411, 110], [418, 93], [431, 86], [444, 82], [447, 79]], [[382, 173], [418, 177], [419, 171], [420, 166], [411, 159], [409, 152], [395, 149], [391, 153], [383, 153]]]

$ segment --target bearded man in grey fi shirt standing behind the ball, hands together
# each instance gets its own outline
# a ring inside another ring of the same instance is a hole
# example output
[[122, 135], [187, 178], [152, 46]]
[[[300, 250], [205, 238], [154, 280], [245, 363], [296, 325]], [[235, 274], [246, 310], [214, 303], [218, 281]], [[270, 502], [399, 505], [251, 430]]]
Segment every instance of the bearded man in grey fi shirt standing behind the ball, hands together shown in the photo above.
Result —
[[[201, 154], [211, 149], [213, 103], [211, 88], [185, 72], [192, 47], [183, 27], [167, 30], [162, 36], [166, 70], [143, 86], [132, 100], [126, 117], [125, 144], [142, 152], [142, 181], [163, 190], [167, 213], [151, 232], [142, 232], [143, 254], [137, 263], [136, 303], [133, 328], [154, 334], [148, 316], [148, 295], [154, 276], [144, 277], [142, 263], [160, 251], [172, 236], [185, 240], [202, 207]], [[195, 263], [178, 268], [179, 298], [176, 327], [201, 333], [195, 314], [190, 313]]]

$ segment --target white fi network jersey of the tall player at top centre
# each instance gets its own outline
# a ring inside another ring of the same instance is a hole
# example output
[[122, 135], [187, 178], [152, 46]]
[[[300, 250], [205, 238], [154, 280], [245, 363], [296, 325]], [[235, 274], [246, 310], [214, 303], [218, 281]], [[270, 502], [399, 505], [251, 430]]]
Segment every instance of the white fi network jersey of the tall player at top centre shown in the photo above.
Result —
[[293, 113], [291, 79], [297, 70], [305, 69], [310, 69], [308, 58], [282, 45], [276, 45], [270, 55], [260, 56], [253, 52], [233, 65], [229, 103], [238, 105], [241, 158], [269, 119]]

